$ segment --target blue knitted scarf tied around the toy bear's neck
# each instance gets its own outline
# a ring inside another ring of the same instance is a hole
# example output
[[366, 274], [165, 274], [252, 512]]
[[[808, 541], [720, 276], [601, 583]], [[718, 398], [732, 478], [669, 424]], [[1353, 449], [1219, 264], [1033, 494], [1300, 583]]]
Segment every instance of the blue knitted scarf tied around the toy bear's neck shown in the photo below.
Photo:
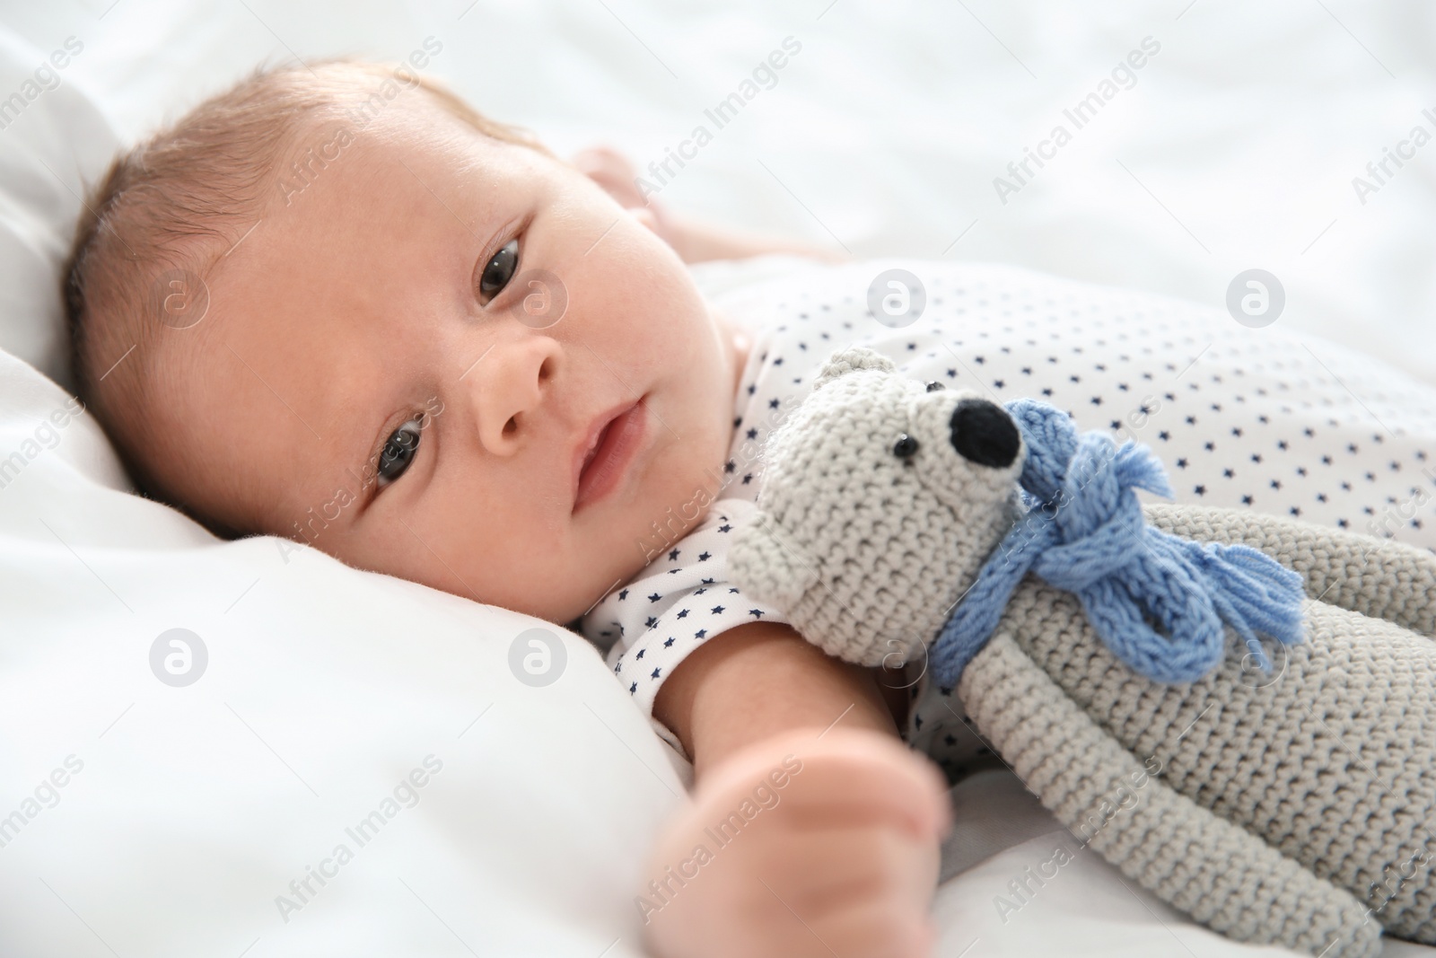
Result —
[[1020, 481], [1028, 511], [938, 633], [931, 664], [942, 688], [958, 684], [1028, 572], [1077, 593], [1107, 648], [1157, 682], [1195, 682], [1216, 668], [1222, 622], [1264, 672], [1271, 662], [1256, 632], [1282, 645], [1302, 641], [1300, 575], [1249, 546], [1202, 546], [1146, 524], [1134, 490], [1172, 496], [1147, 447], [1117, 448], [1104, 432], [1078, 437], [1066, 412], [1035, 399], [1007, 411], [1027, 445]]

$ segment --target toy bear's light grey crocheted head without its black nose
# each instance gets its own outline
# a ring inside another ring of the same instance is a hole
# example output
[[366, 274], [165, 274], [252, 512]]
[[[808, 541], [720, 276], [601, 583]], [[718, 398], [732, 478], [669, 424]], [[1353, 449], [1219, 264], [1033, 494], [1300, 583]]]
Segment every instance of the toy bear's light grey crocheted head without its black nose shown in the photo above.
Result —
[[[895, 371], [862, 346], [833, 355], [768, 437], [761, 511], [728, 550], [735, 583], [829, 655], [862, 665], [922, 656], [1011, 526], [1022, 471], [1021, 457], [976, 467], [946, 441], [958, 402], [975, 394], [926, 392]], [[923, 437], [909, 460], [892, 454], [902, 434]]]

